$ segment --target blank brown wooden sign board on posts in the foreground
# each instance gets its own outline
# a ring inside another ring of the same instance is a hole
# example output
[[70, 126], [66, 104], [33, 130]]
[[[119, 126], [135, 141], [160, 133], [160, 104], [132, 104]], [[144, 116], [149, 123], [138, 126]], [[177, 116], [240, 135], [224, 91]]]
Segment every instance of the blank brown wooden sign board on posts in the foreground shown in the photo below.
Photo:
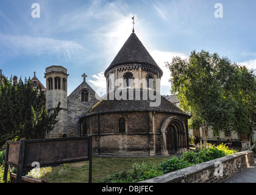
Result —
[[89, 182], [91, 182], [91, 160], [91, 137], [7, 141], [4, 181], [6, 182], [7, 179], [9, 165], [17, 168], [16, 182], [21, 182], [22, 170], [31, 168], [33, 162], [45, 167], [90, 161]]

